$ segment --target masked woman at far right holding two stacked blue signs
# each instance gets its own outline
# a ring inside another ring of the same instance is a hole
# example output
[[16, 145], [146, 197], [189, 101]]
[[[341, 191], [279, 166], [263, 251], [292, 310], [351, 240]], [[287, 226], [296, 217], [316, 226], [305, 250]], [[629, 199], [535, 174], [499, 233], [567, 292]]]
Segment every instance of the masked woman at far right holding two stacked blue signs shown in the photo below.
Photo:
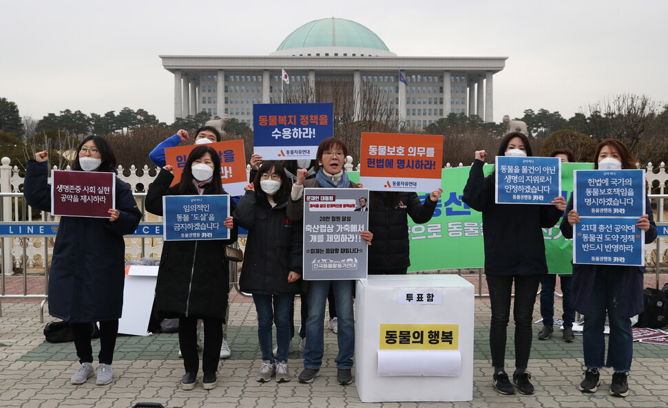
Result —
[[[594, 170], [633, 170], [636, 160], [622, 142], [606, 139], [596, 147]], [[645, 231], [645, 244], [656, 239], [657, 230], [649, 198], [645, 197], [647, 214], [636, 222]], [[573, 209], [572, 198], [568, 202], [567, 218], [561, 222], [561, 232], [573, 237], [573, 226], [580, 222], [580, 215]], [[583, 328], [583, 352], [585, 354], [585, 378], [578, 388], [587, 393], [596, 392], [598, 369], [612, 367], [610, 394], [625, 397], [629, 394], [627, 376], [633, 359], [632, 316], [643, 311], [643, 274], [645, 266], [612, 266], [573, 264], [573, 299], [575, 309], [585, 315]], [[605, 355], [605, 315], [609, 318], [610, 335]]]

